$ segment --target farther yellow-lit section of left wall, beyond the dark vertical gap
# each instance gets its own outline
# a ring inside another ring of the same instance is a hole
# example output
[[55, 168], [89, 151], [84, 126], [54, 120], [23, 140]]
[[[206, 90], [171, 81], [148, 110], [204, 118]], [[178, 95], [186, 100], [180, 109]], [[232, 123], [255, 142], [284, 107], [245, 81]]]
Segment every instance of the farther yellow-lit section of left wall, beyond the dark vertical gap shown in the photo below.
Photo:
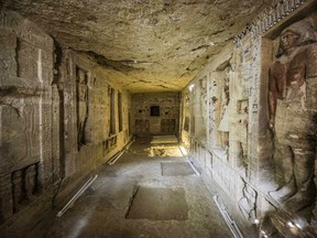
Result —
[[130, 141], [130, 96], [94, 58], [63, 48], [56, 76], [64, 118], [65, 177], [87, 175]]

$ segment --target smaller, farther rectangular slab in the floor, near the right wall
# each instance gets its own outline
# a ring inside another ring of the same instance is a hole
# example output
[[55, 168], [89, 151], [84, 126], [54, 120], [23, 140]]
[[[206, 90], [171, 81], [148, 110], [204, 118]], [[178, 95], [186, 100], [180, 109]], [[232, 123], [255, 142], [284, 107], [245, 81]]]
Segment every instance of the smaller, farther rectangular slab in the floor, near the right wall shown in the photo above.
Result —
[[188, 162], [161, 162], [163, 176], [187, 176], [195, 174]]

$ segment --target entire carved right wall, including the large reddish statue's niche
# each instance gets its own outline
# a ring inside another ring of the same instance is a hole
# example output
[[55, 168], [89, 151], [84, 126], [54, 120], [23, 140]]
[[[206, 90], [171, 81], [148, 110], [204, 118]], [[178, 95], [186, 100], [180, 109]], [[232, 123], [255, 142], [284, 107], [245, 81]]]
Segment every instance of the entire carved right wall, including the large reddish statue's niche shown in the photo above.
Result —
[[[259, 218], [259, 227], [267, 236], [315, 236], [311, 235], [313, 228], [316, 229], [314, 9], [314, 1], [292, 0], [267, 8], [237, 36], [236, 45], [228, 45], [214, 57], [183, 90], [181, 137], [192, 151], [192, 160], [205, 180], [212, 178], [223, 188], [230, 198], [228, 203], [233, 203], [245, 220], [254, 223]], [[286, 62], [283, 66], [286, 72], [275, 73], [278, 75], [275, 80], [287, 82], [284, 84], [287, 97], [277, 99], [277, 111], [281, 113], [278, 104], [286, 100], [288, 107], [283, 109], [284, 121], [277, 123], [276, 119], [272, 130], [269, 129], [267, 101], [272, 95], [269, 75], [278, 61], [275, 53], [280, 35], [287, 28], [300, 36], [297, 39], [300, 42], [294, 46], [293, 54], [281, 56], [278, 64]], [[306, 52], [300, 53], [306, 56], [300, 58], [298, 52]], [[294, 95], [299, 93], [306, 98], [300, 96], [297, 107]], [[295, 106], [298, 110], [294, 109], [296, 113], [291, 116]], [[289, 220], [297, 227], [287, 226]]]

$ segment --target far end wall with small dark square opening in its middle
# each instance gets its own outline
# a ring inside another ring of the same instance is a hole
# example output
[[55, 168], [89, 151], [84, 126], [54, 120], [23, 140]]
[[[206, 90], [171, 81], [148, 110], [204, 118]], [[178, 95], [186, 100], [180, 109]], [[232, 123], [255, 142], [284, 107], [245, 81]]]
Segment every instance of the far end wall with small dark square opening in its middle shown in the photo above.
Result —
[[131, 100], [133, 133], [142, 136], [178, 133], [178, 93], [133, 94]]

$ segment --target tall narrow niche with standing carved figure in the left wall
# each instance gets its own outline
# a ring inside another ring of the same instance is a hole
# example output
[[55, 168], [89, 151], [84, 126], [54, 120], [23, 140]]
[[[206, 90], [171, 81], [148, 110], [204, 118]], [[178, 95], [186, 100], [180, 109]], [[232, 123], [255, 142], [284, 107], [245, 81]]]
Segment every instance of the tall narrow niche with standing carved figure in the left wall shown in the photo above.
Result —
[[77, 129], [78, 129], [78, 149], [86, 143], [86, 123], [88, 118], [88, 75], [81, 68], [76, 68], [77, 85]]

